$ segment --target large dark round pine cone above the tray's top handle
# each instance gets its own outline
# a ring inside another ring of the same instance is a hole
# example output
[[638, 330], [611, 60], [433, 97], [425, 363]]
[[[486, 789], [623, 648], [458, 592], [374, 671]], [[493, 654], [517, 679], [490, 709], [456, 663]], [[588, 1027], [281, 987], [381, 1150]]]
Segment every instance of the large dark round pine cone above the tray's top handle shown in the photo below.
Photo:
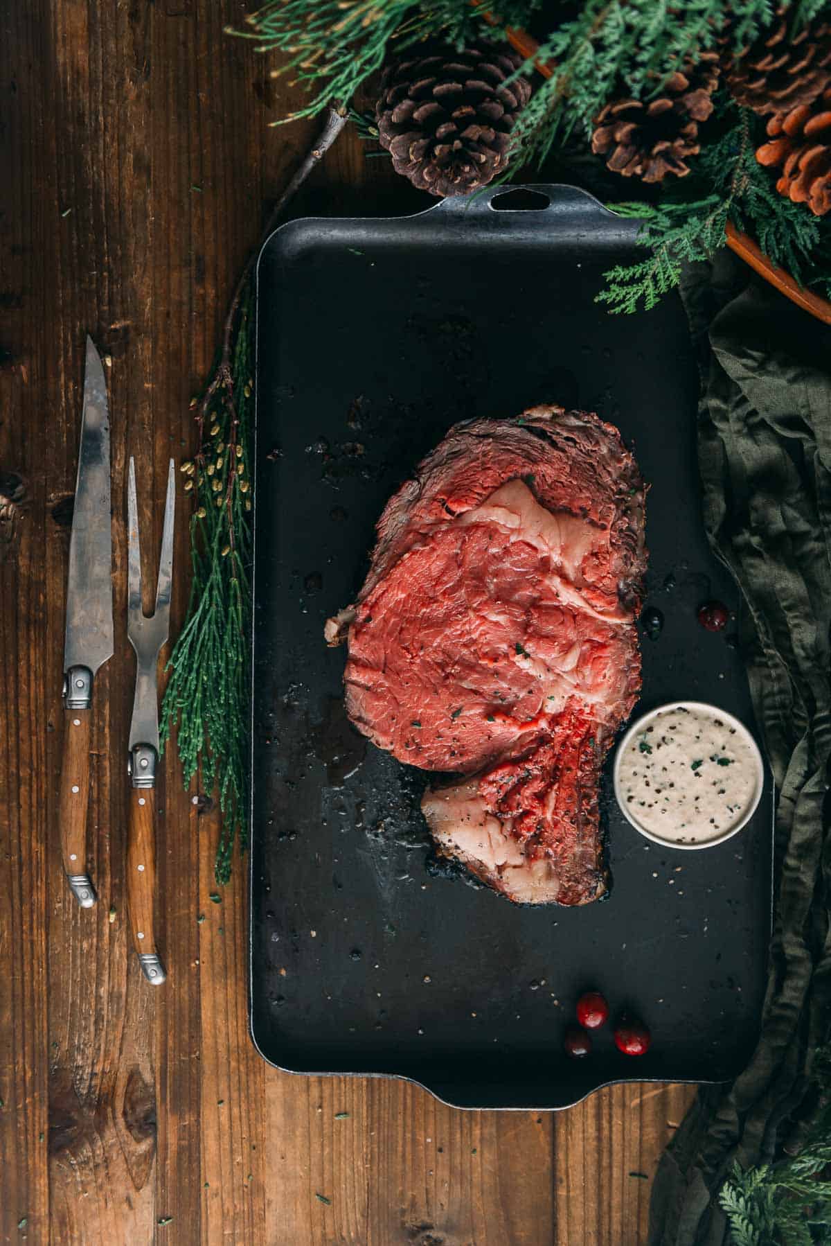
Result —
[[505, 85], [521, 64], [485, 42], [461, 51], [430, 44], [395, 60], [376, 116], [396, 173], [439, 197], [487, 186], [507, 164], [511, 130], [531, 96], [525, 77]]

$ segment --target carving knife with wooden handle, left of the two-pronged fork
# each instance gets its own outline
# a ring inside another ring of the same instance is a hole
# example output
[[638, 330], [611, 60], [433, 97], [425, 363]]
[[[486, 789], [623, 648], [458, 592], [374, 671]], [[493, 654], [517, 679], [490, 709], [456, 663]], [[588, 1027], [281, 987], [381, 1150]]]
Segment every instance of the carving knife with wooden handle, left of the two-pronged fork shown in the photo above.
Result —
[[87, 872], [90, 725], [95, 675], [112, 657], [112, 533], [110, 530], [110, 411], [101, 358], [86, 339], [83, 414], [66, 588], [61, 855], [72, 895], [95, 905]]

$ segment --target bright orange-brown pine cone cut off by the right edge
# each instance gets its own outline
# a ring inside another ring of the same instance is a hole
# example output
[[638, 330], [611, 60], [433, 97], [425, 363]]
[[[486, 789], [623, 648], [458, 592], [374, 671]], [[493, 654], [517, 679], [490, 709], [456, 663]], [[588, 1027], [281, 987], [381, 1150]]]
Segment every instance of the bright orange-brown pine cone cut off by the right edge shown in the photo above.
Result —
[[831, 87], [812, 105], [779, 112], [767, 122], [771, 142], [756, 152], [760, 164], [780, 168], [780, 194], [807, 203], [815, 217], [831, 212]]

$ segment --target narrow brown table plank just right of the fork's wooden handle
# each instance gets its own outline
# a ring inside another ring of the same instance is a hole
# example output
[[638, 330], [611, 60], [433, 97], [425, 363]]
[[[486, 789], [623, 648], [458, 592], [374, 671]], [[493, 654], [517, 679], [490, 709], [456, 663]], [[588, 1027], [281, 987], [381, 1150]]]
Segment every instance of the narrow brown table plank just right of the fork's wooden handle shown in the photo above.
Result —
[[[168, 461], [192, 451], [188, 400], [194, 370], [208, 365], [216, 338], [212, 318], [194, 314], [194, 248], [204, 240], [199, 197], [189, 183], [197, 117], [204, 142], [222, 147], [224, 122], [216, 107], [196, 100], [197, 65], [206, 62], [202, 24], [216, 30], [218, 5], [166, 2], [135, 6], [147, 22], [136, 41], [132, 90], [148, 95], [148, 127], [130, 142], [128, 176], [150, 179], [150, 245], [132, 257], [142, 273], [138, 315], [121, 326], [118, 349], [146, 360], [145, 391], [130, 410], [130, 452], [140, 470], [138, 502], [143, 538], [146, 607], [151, 608], [162, 538]], [[116, 50], [117, 55], [117, 50]], [[223, 75], [219, 75], [221, 80]], [[131, 199], [121, 194], [123, 211]], [[126, 221], [131, 233], [145, 222]], [[127, 316], [125, 316], [127, 319]], [[177, 473], [177, 481], [178, 477]], [[171, 639], [184, 619], [189, 592], [189, 507], [176, 498]], [[166, 650], [163, 657], [167, 654]], [[159, 669], [163, 668], [163, 662]], [[162, 678], [162, 687], [164, 679]], [[159, 687], [161, 701], [161, 687]], [[176, 748], [159, 761], [157, 819], [157, 921], [167, 981], [157, 1006], [156, 1070], [158, 1155], [156, 1166], [157, 1240], [198, 1242], [202, 1219], [202, 999], [199, 993], [199, 834], [196, 809], [182, 784]]]

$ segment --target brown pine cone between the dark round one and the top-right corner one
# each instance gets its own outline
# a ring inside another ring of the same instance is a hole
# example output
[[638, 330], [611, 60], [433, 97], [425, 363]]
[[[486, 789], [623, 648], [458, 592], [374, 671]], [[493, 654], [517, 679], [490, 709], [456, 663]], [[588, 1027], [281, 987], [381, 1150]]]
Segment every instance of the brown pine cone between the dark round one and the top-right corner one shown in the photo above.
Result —
[[684, 177], [686, 159], [700, 151], [699, 122], [713, 112], [719, 81], [718, 52], [704, 52], [693, 66], [677, 70], [657, 100], [613, 100], [599, 112], [592, 151], [624, 177], [663, 182], [667, 173]]

